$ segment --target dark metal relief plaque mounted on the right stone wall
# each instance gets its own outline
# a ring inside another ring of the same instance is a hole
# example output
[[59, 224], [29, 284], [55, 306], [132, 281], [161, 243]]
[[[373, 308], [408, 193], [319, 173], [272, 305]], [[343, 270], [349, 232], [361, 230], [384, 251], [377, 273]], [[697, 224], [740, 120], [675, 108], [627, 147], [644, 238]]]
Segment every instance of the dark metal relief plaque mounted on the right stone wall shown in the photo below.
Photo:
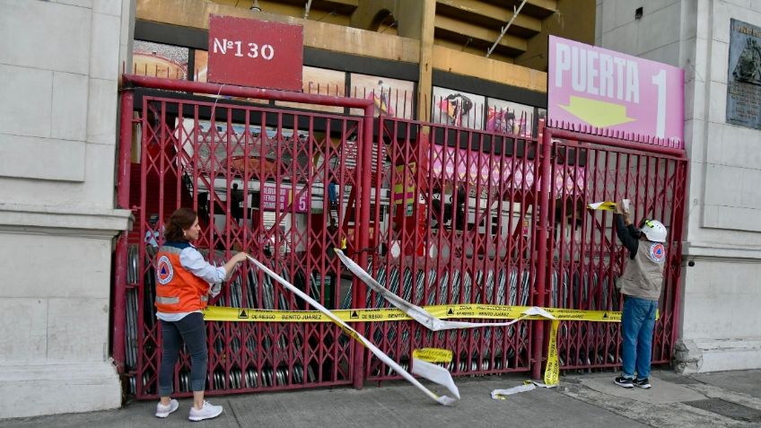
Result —
[[727, 123], [761, 129], [761, 28], [731, 20]]

